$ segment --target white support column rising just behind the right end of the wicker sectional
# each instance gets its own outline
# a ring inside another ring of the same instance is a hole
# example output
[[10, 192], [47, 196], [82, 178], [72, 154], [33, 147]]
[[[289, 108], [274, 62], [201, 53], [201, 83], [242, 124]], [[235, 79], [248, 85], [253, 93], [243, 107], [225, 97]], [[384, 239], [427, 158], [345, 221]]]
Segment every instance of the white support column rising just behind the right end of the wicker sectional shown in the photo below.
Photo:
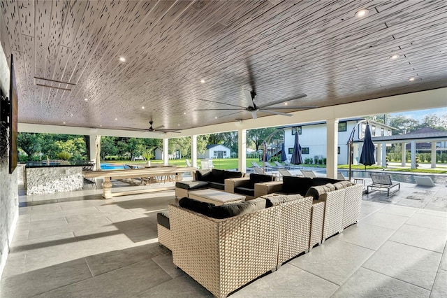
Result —
[[337, 178], [338, 164], [338, 119], [326, 119], [326, 176]]

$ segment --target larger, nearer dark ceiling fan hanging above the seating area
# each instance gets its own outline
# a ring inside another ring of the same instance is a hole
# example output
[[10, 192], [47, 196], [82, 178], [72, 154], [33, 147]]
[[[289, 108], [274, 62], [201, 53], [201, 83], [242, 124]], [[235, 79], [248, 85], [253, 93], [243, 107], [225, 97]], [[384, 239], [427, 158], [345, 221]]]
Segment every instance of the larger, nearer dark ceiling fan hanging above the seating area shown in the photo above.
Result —
[[291, 101], [294, 99], [300, 99], [302, 97], [307, 97], [307, 95], [304, 93], [298, 94], [294, 97], [288, 97], [286, 99], [270, 101], [270, 103], [268, 103], [268, 104], [256, 105], [254, 102], [254, 100], [256, 98], [256, 91], [255, 91], [255, 87], [254, 87], [254, 85], [255, 85], [254, 84], [254, 76], [253, 76], [253, 72], [251, 71], [251, 65], [247, 64], [247, 68], [249, 71], [250, 85], [251, 85], [251, 91], [244, 89], [245, 99], [247, 99], [247, 103], [248, 103], [247, 107], [237, 106], [235, 104], [227, 104], [227, 103], [219, 102], [219, 101], [212, 101], [212, 100], [208, 100], [208, 99], [199, 99], [201, 101], [209, 101], [209, 102], [213, 102], [213, 103], [217, 103], [217, 104], [226, 104], [227, 106], [235, 106], [236, 108], [197, 108], [194, 111], [238, 111], [235, 113], [230, 113], [228, 115], [224, 115], [222, 117], [226, 117], [229, 115], [247, 111], [247, 112], [251, 113], [251, 117], [253, 119], [256, 119], [256, 118], [258, 118], [258, 115], [256, 114], [257, 112], [270, 113], [270, 114], [275, 114], [275, 115], [283, 115], [283, 116], [291, 117], [292, 116], [291, 114], [282, 113], [280, 111], [281, 110], [300, 110], [300, 109], [316, 108], [317, 107], [317, 106], [274, 106], [275, 104], [282, 104], [286, 101]]

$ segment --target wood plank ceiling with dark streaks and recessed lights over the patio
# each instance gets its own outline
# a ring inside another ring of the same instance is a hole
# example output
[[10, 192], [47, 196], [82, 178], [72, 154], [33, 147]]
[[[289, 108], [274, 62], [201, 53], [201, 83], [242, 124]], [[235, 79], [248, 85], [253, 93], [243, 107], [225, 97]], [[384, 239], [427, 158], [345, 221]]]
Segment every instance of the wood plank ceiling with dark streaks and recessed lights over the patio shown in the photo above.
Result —
[[252, 86], [258, 105], [305, 93], [290, 104], [319, 107], [447, 86], [445, 0], [2, 0], [1, 13], [24, 123], [186, 129], [251, 118], [194, 110], [247, 106]]

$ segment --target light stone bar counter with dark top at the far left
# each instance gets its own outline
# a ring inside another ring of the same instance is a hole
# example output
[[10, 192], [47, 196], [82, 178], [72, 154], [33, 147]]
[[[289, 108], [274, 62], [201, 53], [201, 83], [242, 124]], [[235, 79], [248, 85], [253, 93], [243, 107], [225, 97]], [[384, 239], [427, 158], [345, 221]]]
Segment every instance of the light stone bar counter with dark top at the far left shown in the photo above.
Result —
[[28, 162], [24, 171], [27, 194], [82, 190], [86, 162]]

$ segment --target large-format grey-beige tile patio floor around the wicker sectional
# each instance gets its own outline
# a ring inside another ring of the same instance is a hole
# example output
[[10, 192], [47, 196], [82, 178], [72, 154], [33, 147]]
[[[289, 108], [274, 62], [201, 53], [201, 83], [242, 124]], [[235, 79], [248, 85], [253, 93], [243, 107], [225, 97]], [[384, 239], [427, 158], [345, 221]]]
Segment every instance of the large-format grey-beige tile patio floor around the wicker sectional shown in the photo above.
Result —
[[[212, 297], [156, 239], [174, 192], [20, 196], [0, 297]], [[447, 188], [365, 194], [361, 220], [230, 297], [447, 297]]]

